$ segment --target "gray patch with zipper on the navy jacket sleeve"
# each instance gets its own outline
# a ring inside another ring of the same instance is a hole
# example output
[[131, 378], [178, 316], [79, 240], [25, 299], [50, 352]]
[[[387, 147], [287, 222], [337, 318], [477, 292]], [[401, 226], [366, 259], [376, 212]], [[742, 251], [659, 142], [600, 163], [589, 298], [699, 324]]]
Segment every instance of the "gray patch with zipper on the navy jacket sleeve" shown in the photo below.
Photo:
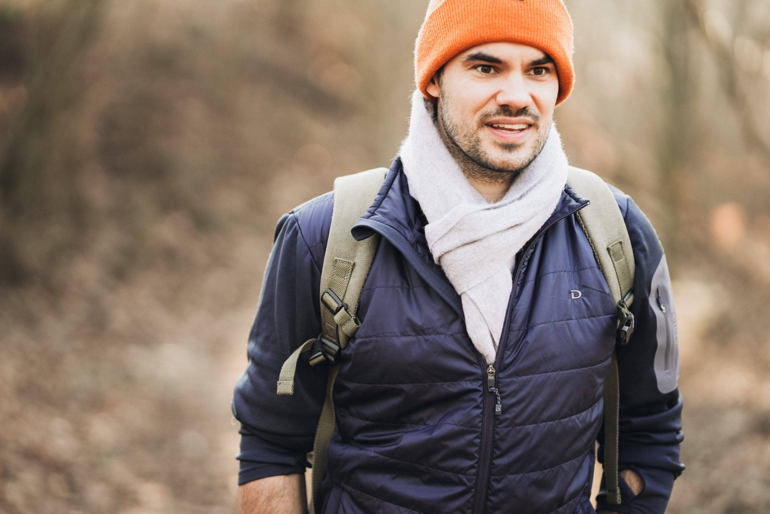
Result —
[[656, 332], [658, 348], [655, 350], [654, 359], [655, 379], [658, 380], [660, 392], [671, 392], [676, 389], [679, 379], [679, 338], [674, 290], [671, 287], [671, 276], [668, 275], [665, 253], [661, 256], [661, 262], [658, 263], [658, 268], [652, 275], [650, 306], [658, 322]]

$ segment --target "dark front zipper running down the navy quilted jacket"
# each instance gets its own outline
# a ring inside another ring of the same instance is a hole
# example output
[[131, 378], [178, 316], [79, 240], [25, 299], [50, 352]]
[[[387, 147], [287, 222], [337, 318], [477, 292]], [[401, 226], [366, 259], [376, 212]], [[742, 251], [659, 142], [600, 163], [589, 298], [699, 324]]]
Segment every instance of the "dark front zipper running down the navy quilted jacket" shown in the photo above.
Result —
[[484, 388], [484, 399], [488, 399], [488, 401], [484, 406], [484, 419], [482, 420], [481, 426], [481, 458], [479, 462], [479, 475], [476, 485], [476, 498], [474, 499], [474, 514], [484, 514], [484, 507], [486, 506], [487, 488], [489, 486], [489, 473], [492, 465], [492, 435], [494, 433], [494, 419], [500, 415], [502, 410], [502, 406], [500, 405], [500, 392], [497, 389], [497, 374], [500, 372], [500, 357], [503, 355], [505, 343], [508, 340], [507, 335], [508, 323], [510, 322], [511, 318], [511, 303], [513, 302], [514, 293], [516, 292], [519, 273], [521, 272], [522, 265], [524, 265], [524, 260], [527, 259], [527, 253], [530, 252], [534, 244], [538, 241], [538, 239], [541, 238], [545, 231], [550, 229], [554, 223], [561, 221], [568, 215], [572, 215], [580, 209], [583, 209], [589, 203], [591, 203], [591, 200], [587, 200], [581, 205], [578, 205], [576, 209], [573, 209], [570, 212], [567, 212], [567, 214], [554, 219], [554, 221], [549, 223], [544, 229], [541, 229], [540, 232], [537, 232], [537, 235], [534, 237], [534, 239], [532, 239], [530, 244], [527, 245], [527, 248], [524, 249], [524, 253], [521, 254], [521, 260], [519, 260], [519, 263], [516, 266], [516, 273], [514, 274], [514, 279], [511, 285], [511, 295], [508, 297], [508, 305], [505, 310], [503, 332], [500, 334], [500, 344], [497, 345], [497, 352], [495, 352], [494, 355], [494, 363], [487, 365], [487, 369], [482, 368], [484, 371], [485, 379], [487, 381], [487, 387]]

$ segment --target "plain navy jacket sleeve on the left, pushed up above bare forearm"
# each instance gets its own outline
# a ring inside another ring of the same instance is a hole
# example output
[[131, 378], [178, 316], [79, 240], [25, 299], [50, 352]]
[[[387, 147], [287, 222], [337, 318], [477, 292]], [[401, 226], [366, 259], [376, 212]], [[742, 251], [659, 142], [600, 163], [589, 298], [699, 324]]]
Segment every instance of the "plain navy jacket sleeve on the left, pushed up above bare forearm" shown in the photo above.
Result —
[[313, 449], [326, 373], [300, 357], [294, 394], [278, 396], [276, 382], [289, 355], [321, 330], [319, 288], [319, 265], [296, 215], [288, 212], [276, 225], [246, 346], [248, 364], [236, 382], [231, 404], [240, 422], [239, 485], [302, 473], [310, 466], [306, 453]]

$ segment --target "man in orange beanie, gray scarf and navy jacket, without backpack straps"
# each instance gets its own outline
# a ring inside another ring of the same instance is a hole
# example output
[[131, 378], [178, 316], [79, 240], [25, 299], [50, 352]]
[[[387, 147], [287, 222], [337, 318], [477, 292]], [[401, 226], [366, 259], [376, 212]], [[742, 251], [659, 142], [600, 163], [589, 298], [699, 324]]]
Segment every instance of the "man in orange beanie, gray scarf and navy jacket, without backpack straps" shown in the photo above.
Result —
[[[571, 54], [561, 0], [430, 2], [409, 134], [352, 231], [382, 239], [340, 355], [320, 512], [594, 512], [614, 301], [553, 121]], [[611, 190], [634, 252], [635, 328], [617, 347], [622, 502], [601, 492], [598, 512], [664, 512], [685, 468], [671, 279], [648, 219]], [[300, 362], [293, 396], [275, 385], [320, 332], [332, 202], [276, 226], [233, 399], [246, 514], [304, 511], [326, 375]]]

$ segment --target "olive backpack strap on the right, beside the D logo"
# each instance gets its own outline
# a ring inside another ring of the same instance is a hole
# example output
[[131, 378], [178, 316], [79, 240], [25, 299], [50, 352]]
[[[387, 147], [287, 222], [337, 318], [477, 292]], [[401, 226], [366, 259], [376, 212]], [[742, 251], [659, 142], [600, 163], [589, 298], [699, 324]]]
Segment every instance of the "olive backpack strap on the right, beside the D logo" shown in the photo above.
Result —
[[[615, 301], [617, 341], [628, 344], [634, 331], [634, 315], [628, 309], [634, 301], [634, 252], [618, 202], [599, 175], [569, 167], [567, 183], [578, 196], [591, 201], [577, 211], [577, 219], [591, 242], [594, 255]], [[604, 476], [607, 501], [621, 503], [618, 485], [618, 414], [620, 388], [618, 358], [613, 349], [610, 370], [604, 381]]]

